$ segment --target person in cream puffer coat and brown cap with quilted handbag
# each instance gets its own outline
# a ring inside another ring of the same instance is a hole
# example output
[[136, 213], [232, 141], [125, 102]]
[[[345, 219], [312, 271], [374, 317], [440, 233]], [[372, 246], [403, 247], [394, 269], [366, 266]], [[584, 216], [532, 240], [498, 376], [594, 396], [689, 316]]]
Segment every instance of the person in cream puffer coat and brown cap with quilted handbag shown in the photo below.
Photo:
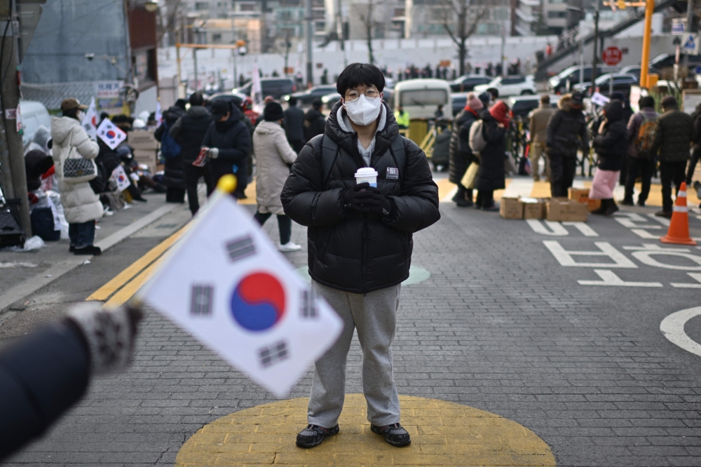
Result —
[[104, 212], [100, 198], [90, 187], [90, 182], [71, 183], [63, 178], [63, 164], [70, 147], [75, 147], [81, 156], [91, 160], [100, 151], [97, 143], [90, 140], [88, 133], [81, 127], [83, 110], [87, 108], [73, 98], [61, 102], [63, 116], [51, 122], [51, 138], [61, 204], [68, 222], [68, 236], [71, 238], [69, 251], [76, 255], [100, 255], [100, 248], [93, 246], [95, 221]]

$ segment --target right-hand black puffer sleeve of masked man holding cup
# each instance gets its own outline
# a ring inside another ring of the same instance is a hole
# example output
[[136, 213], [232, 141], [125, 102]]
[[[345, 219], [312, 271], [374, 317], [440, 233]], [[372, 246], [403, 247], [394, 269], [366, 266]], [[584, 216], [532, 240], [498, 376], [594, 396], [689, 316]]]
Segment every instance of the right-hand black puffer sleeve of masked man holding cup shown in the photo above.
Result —
[[407, 164], [402, 177], [402, 196], [388, 196], [395, 209], [383, 221], [393, 229], [416, 232], [440, 219], [438, 187], [421, 148], [405, 138], [404, 151], [407, 154]]

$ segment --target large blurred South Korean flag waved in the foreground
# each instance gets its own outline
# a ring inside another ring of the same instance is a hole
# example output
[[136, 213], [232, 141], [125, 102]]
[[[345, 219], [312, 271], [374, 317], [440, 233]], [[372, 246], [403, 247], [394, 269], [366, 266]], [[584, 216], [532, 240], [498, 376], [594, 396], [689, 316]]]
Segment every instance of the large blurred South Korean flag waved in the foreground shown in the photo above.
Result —
[[250, 212], [219, 190], [139, 298], [279, 398], [343, 328]]

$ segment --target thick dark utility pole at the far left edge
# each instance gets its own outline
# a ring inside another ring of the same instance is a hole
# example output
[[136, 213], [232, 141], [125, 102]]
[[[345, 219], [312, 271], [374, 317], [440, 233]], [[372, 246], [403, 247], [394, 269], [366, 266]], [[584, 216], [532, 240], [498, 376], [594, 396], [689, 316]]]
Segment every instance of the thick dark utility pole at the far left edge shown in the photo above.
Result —
[[[0, 69], [7, 70], [0, 84], [0, 103], [2, 111], [0, 128], [0, 170], [2, 170], [4, 196], [18, 198], [20, 205], [20, 221], [22, 230], [27, 238], [32, 236], [32, 222], [29, 220], [29, 205], [27, 201], [27, 173], [25, 172], [25, 153], [22, 145], [22, 135], [17, 132], [17, 107], [20, 102], [20, 83], [17, 69], [17, 46], [15, 44], [18, 30], [13, 25], [14, 2], [0, 1], [0, 11], [5, 21], [0, 21], [5, 36], [0, 38], [1, 56]], [[6, 21], [11, 21], [6, 28]], [[3, 24], [5, 23], [5, 24]], [[4, 74], [4, 73], [3, 73]]]

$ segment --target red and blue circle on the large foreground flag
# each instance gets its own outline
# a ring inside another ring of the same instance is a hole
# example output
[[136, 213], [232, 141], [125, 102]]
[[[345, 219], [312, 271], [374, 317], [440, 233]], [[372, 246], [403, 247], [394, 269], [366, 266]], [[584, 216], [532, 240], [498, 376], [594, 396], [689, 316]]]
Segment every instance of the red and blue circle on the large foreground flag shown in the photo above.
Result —
[[285, 314], [283, 285], [264, 272], [244, 276], [231, 295], [231, 314], [249, 331], [270, 329]]

